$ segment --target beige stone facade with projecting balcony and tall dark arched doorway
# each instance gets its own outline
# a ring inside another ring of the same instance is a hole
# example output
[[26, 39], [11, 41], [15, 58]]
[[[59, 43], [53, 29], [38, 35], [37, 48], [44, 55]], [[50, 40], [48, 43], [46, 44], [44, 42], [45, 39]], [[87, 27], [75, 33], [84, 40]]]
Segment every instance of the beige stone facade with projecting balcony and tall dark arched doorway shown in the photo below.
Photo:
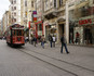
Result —
[[65, 5], [67, 0], [44, 0], [44, 34], [54, 35], [57, 42], [63, 34], [66, 34]]

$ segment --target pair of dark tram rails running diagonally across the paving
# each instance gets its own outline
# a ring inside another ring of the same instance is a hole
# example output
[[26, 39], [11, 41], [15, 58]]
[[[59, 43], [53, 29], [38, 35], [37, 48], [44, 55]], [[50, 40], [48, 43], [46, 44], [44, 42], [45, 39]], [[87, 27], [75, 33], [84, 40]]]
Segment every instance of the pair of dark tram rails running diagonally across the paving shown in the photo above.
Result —
[[[53, 58], [53, 56], [49, 56], [49, 55], [46, 55], [46, 54], [43, 54], [43, 53], [40, 53], [40, 52], [37, 52], [37, 51], [32, 51], [32, 50], [29, 50], [29, 49], [26, 49], [26, 48], [18, 49], [18, 50], [22, 51], [22, 52], [24, 52], [24, 53], [26, 53], [26, 54], [28, 54], [28, 55], [30, 55], [30, 56], [33, 56], [33, 58], [38, 59], [38, 60], [40, 60], [40, 61], [42, 61], [42, 62], [44, 62], [44, 63], [48, 63], [48, 64], [50, 64], [50, 65], [52, 65], [52, 66], [55, 66], [55, 67], [57, 67], [57, 68], [59, 68], [59, 69], [62, 69], [62, 71], [65, 71], [65, 72], [67, 72], [67, 73], [69, 73], [69, 74], [72, 74], [73, 76], [79, 76], [79, 75], [76, 74], [76, 73], [73, 73], [72, 71], [63, 68], [63, 67], [57, 66], [57, 65], [55, 65], [55, 64], [53, 64], [53, 63], [51, 63], [51, 62], [48, 62], [48, 61], [45, 61], [45, 60], [43, 60], [43, 59], [40, 59], [39, 56], [36, 56], [36, 55], [31, 54], [31, 53], [28, 53], [27, 51], [31, 51], [31, 52], [33, 52], [33, 53], [36, 53], [36, 54], [39, 54], [39, 55], [42, 55], [42, 56], [46, 56], [46, 58], [49, 58], [49, 59], [53, 59], [53, 60], [55, 60], [55, 61], [59, 61], [59, 62], [62, 62], [62, 63], [66, 63], [66, 64], [68, 64], [68, 65], [72, 65], [72, 66], [75, 66], [75, 67], [78, 67], [78, 68], [81, 68], [81, 69], [83, 69], [83, 71], [86, 71], [86, 72], [90, 72], [90, 73], [93, 73], [93, 74], [94, 74], [94, 71], [93, 71], [93, 69], [90, 69], [90, 68], [86, 68], [86, 67], [83, 67], [83, 66], [80, 66], [80, 65], [77, 65], [77, 64], [72, 64], [72, 63], [69, 63], [69, 62], [66, 62], [66, 61], [63, 61], [63, 60], [59, 60], [59, 59], [56, 59], [56, 58]], [[25, 51], [25, 50], [27, 50], [27, 51]], [[86, 73], [86, 72], [85, 72], [85, 73]]]

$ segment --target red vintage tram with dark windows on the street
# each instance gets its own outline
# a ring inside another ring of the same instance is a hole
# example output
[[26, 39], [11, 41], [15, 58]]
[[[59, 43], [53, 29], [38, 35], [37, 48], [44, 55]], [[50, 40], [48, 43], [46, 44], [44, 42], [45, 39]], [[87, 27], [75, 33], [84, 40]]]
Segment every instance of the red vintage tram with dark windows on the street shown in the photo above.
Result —
[[24, 46], [24, 26], [14, 24], [6, 29], [6, 43], [11, 46]]

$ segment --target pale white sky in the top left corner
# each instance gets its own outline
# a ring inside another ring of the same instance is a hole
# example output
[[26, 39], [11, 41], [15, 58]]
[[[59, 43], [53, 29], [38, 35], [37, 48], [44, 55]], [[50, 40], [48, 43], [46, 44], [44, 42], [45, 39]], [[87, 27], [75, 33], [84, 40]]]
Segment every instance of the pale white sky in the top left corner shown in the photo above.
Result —
[[9, 10], [10, 1], [9, 0], [0, 0], [0, 20], [5, 11]]

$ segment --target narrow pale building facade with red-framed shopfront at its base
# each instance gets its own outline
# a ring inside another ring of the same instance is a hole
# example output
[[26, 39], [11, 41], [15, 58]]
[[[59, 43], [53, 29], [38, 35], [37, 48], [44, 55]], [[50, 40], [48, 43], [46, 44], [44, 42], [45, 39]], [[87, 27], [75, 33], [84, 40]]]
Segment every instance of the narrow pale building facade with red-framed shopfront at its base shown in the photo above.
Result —
[[43, 35], [43, 0], [36, 0], [37, 22], [36, 36], [41, 37]]

